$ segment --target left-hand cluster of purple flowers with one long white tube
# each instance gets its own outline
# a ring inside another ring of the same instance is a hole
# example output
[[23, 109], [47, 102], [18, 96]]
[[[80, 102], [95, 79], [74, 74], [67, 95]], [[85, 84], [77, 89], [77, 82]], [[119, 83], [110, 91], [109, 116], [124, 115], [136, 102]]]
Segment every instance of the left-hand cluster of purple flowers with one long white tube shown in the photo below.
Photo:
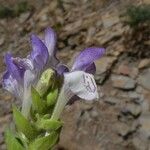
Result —
[[22, 100], [22, 113], [27, 117], [31, 106], [31, 85], [36, 86], [44, 70], [58, 64], [56, 58], [56, 34], [51, 28], [45, 30], [44, 40], [31, 36], [32, 52], [27, 58], [5, 55], [7, 67], [3, 75], [3, 87]]

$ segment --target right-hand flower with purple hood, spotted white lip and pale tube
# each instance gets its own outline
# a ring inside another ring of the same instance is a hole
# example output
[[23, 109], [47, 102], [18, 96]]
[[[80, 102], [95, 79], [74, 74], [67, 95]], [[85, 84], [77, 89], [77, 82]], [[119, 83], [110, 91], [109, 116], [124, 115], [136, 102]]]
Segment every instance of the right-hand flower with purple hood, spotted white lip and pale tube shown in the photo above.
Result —
[[98, 98], [97, 86], [92, 74], [96, 71], [94, 61], [104, 52], [104, 48], [87, 48], [76, 57], [70, 72], [65, 65], [57, 67], [57, 72], [64, 75], [64, 83], [52, 119], [59, 119], [65, 105], [75, 95], [85, 100]]

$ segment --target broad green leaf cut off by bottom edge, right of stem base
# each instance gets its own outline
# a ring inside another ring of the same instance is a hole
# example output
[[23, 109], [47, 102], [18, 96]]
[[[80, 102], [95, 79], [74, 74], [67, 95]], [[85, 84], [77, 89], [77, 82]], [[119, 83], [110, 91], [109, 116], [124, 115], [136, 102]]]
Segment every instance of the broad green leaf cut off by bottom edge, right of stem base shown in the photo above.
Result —
[[29, 145], [29, 150], [49, 150], [58, 141], [58, 133], [52, 132], [48, 136], [38, 138]]

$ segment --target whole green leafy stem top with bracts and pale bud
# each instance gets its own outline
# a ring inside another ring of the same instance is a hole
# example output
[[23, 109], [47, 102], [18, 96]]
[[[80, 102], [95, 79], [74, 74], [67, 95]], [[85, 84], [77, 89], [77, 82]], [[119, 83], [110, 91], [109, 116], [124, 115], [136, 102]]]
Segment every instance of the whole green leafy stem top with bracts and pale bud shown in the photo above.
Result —
[[15, 128], [5, 132], [8, 150], [50, 150], [57, 143], [62, 122], [50, 119], [59, 91], [55, 81], [54, 71], [47, 69], [38, 86], [31, 87], [32, 107], [28, 118], [13, 106]]

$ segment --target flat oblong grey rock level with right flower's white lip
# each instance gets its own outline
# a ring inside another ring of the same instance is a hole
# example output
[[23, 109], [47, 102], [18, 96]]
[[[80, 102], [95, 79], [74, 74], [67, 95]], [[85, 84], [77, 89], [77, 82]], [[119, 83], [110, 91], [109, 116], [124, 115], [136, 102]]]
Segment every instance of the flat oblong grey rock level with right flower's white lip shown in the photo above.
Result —
[[112, 75], [111, 80], [113, 87], [122, 90], [132, 90], [136, 86], [135, 80], [122, 75]]

